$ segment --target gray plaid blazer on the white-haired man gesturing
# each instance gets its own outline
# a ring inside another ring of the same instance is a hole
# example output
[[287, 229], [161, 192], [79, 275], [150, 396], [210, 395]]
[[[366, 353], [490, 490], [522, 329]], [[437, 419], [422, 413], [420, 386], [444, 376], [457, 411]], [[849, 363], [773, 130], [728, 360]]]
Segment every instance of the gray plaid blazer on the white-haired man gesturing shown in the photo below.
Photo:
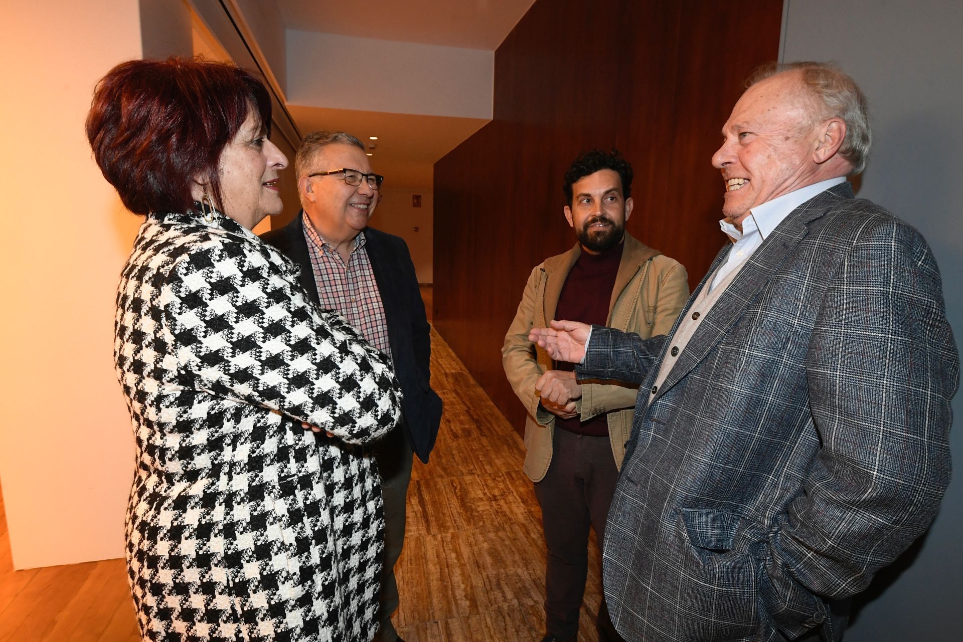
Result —
[[845, 183], [699, 322], [651, 404], [675, 328], [593, 326], [577, 369], [641, 384], [604, 543], [612, 621], [631, 641], [839, 639], [827, 602], [903, 552], [950, 481], [959, 359], [936, 262]]

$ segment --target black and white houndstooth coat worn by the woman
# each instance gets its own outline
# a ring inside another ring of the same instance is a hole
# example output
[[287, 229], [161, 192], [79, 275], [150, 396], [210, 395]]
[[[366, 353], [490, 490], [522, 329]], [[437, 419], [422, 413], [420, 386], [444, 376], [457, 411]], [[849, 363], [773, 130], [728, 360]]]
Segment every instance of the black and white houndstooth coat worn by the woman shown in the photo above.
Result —
[[383, 513], [361, 445], [397, 423], [400, 393], [377, 350], [297, 283], [218, 214], [148, 218], [123, 269], [126, 556], [145, 640], [374, 635]]

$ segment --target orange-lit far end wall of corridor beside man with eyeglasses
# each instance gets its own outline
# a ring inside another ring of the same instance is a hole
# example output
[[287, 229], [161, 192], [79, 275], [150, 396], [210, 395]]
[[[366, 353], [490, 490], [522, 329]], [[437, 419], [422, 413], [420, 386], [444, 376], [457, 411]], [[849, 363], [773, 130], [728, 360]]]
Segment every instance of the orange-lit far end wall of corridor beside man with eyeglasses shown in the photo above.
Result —
[[[433, 283], [434, 203], [431, 191], [384, 190], [371, 226], [404, 239], [411, 252], [419, 283]], [[421, 194], [421, 207], [412, 207], [411, 196]]]

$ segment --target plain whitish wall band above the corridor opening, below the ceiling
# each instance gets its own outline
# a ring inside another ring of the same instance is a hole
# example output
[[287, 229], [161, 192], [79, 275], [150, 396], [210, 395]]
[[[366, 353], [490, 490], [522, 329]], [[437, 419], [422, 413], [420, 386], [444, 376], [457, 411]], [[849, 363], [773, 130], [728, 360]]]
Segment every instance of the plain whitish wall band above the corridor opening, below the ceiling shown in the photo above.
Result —
[[288, 100], [296, 105], [492, 116], [493, 51], [289, 29], [287, 52]]

